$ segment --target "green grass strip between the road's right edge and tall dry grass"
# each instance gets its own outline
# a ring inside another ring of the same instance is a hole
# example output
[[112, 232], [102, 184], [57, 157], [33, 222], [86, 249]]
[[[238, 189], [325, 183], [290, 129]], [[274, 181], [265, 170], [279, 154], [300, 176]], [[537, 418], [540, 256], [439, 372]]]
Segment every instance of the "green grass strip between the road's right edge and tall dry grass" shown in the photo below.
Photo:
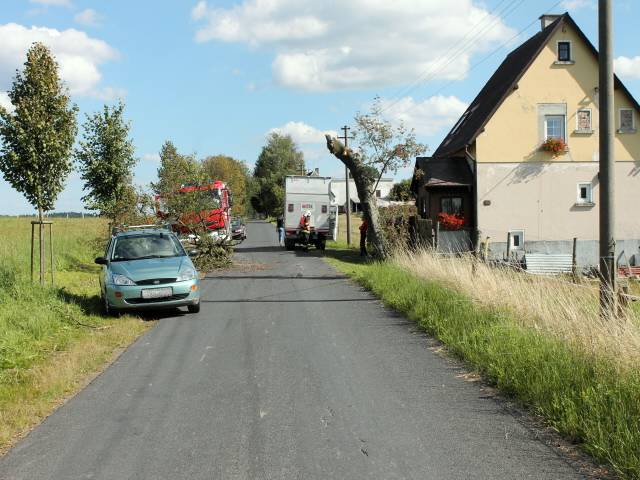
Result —
[[416, 321], [508, 396], [624, 478], [640, 478], [640, 372], [621, 370], [512, 313], [334, 245], [328, 261]]

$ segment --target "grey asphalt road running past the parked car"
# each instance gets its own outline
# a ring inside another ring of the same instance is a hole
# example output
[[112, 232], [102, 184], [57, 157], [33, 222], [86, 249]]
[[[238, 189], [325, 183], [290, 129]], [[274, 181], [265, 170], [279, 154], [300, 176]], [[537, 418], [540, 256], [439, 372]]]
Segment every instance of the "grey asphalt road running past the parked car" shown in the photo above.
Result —
[[203, 283], [0, 459], [1, 479], [572, 479], [411, 323], [248, 226]]

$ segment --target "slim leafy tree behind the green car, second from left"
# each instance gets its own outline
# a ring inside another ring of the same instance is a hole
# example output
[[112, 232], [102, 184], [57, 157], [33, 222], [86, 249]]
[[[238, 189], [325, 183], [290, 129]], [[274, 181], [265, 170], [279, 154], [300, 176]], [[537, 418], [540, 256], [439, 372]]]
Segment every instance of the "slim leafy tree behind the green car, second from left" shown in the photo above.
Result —
[[98, 210], [116, 223], [127, 216], [137, 194], [132, 185], [136, 164], [130, 124], [123, 118], [124, 104], [104, 106], [102, 112], [87, 115], [84, 139], [76, 149], [84, 190], [82, 197], [89, 210]]

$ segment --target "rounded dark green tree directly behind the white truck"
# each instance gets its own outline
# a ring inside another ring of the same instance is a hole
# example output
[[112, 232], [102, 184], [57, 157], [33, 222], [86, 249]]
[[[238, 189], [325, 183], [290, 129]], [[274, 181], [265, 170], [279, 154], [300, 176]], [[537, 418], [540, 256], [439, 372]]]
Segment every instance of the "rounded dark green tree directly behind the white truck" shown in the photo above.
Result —
[[291, 136], [272, 133], [255, 165], [251, 206], [266, 215], [281, 214], [284, 207], [284, 178], [304, 171], [304, 155]]

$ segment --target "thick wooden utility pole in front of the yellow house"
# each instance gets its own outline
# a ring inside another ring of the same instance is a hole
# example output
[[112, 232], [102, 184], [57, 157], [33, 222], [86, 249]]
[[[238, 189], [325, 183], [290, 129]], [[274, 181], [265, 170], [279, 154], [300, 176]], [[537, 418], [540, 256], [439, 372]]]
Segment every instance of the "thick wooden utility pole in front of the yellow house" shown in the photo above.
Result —
[[598, 1], [600, 93], [600, 312], [616, 312], [615, 115], [613, 97], [612, 0]]

